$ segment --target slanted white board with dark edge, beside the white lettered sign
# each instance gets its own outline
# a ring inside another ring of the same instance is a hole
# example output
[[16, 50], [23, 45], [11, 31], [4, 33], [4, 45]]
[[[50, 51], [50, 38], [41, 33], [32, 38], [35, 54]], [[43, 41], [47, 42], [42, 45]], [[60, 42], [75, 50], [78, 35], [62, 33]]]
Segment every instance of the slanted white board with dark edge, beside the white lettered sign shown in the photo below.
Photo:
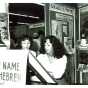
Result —
[[32, 53], [29, 53], [29, 64], [31, 65], [32, 71], [35, 72], [36, 76], [43, 84], [57, 84]]

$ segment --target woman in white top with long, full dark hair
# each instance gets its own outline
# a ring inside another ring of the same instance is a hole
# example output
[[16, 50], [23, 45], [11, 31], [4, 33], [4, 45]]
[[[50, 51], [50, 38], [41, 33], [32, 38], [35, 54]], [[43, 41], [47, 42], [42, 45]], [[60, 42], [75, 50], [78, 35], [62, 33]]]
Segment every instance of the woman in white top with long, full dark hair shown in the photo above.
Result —
[[66, 70], [67, 56], [63, 44], [55, 36], [48, 36], [41, 47], [41, 54], [37, 56], [38, 61], [47, 72], [54, 78], [59, 79], [60, 84]]

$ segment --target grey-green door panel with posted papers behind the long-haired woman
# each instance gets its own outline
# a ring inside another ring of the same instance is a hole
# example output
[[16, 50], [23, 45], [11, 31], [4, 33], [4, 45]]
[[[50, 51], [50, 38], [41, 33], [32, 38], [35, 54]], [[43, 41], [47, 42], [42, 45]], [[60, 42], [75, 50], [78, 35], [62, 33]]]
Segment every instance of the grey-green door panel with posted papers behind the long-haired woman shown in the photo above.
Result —
[[[49, 5], [49, 30], [51, 35], [56, 36], [64, 43], [66, 50], [75, 50], [75, 6], [69, 4], [50, 4]], [[66, 35], [64, 35], [66, 33]], [[67, 44], [68, 43], [68, 44]], [[69, 48], [70, 47], [70, 48]], [[69, 54], [66, 71], [66, 80], [69, 83], [76, 82], [76, 56]]]

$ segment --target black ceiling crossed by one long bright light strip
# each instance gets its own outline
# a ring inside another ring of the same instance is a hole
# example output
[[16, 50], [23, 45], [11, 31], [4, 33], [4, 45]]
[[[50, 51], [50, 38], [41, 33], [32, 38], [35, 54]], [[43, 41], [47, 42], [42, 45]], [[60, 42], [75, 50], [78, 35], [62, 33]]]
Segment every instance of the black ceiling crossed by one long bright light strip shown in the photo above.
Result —
[[34, 3], [9, 3], [9, 20], [11, 23], [44, 22], [44, 6]]

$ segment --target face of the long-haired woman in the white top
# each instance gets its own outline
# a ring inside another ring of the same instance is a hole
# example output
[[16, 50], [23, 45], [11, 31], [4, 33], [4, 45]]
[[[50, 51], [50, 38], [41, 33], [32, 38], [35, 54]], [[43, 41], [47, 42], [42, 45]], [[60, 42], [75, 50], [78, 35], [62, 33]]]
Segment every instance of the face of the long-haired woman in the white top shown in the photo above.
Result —
[[52, 43], [50, 42], [49, 39], [46, 39], [45, 51], [46, 51], [47, 54], [50, 54], [50, 55], [53, 54], [53, 46], [52, 46]]

